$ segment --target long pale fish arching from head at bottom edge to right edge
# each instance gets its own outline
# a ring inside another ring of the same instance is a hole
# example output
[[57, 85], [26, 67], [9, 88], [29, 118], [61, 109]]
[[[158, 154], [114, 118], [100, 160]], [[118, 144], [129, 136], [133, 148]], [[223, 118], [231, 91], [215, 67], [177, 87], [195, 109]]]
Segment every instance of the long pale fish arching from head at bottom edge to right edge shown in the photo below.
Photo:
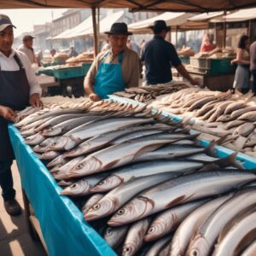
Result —
[[255, 203], [255, 192], [255, 189], [241, 191], [230, 200], [225, 201], [215, 212], [212, 212], [212, 215], [207, 218], [193, 240], [190, 241], [188, 255], [200, 256], [210, 253], [219, 232], [230, 218], [235, 217], [243, 208]]

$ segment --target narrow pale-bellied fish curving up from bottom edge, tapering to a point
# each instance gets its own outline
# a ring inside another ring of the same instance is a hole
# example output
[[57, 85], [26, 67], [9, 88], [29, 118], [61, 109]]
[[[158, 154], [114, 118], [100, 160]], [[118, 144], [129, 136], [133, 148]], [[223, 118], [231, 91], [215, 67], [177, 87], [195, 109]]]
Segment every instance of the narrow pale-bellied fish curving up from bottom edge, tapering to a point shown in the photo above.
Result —
[[191, 212], [183, 222], [177, 227], [171, 243], [170, 256], [184, 255], [189, 246], [189, 241], [194, 233], [203, 224], [204, 220], [224, 201], [228, 200], [230, 195], [224, 195], [217, 199], [207, 202]]

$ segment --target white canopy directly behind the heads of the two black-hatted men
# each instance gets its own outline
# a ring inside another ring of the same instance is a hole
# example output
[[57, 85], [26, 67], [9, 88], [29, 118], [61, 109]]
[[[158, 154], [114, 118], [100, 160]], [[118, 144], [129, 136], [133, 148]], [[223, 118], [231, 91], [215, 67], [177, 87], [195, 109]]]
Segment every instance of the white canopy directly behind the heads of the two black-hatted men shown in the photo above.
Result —
[[155, 20], [165, 20], [167, 26], [181, 26], [183, 23], [187, 22], [187, 20], [192, 16], [194, 15], [186, 13], [166, 12], [162, 15], [155, 16], [148, 20], [132, 23], [128, 27], [129, 30], [134, 33], [147, 33], [151, 32], [150, 26], [154, 25]]

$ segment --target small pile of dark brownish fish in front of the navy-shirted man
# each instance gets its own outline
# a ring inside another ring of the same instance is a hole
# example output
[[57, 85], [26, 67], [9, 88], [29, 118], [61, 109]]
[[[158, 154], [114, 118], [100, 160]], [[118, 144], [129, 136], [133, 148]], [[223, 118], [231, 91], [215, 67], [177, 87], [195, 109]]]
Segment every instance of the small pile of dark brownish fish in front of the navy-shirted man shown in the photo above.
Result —
[[131, 87], [125, 89], [125, 91], [116, 92], [114, 95], [130, 98], [137, 102], [148, 102], [154, 100], [157, 96], [173, 93], [189, 87], [189, 84], [184, 83]]

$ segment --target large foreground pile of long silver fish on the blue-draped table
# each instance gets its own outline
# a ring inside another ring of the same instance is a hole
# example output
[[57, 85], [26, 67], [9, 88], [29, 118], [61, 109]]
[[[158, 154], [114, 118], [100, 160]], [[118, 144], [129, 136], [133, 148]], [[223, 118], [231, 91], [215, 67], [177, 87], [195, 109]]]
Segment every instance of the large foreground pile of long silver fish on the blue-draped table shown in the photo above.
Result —
[[15, 125], [119, 255], [255, 253], [256, 175], [236, 154], [216, 156], [225, 138], [203, 148], [183, 124], [114, 102]]

